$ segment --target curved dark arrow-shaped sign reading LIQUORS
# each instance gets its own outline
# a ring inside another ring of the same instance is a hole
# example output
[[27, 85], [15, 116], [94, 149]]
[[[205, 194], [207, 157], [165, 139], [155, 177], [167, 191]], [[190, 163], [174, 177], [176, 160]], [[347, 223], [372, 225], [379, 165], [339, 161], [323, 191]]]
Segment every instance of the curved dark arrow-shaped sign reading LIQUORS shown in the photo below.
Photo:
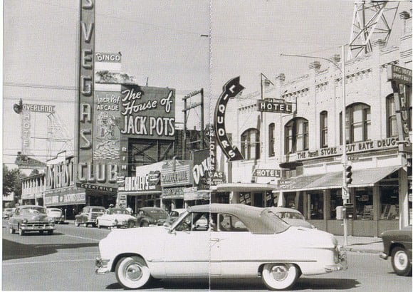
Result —
[[233, 78], [225, 83], [223, 91], [216, 102], [215, 115], [214, 115], [214, 130], [216, 135], [216, 142], [224, 152], [224, 155], [229, 159], [229, 161], [234, 160], [244, 160], [241, 152], [234, 145], [231, 145], [229, 138], [226, 135], [225, 129], [225, 112], [226, 105], [230, 98], [235, 98], [236, 95], [244, 90], [244, 86], [239, 84], [239, 77]]

